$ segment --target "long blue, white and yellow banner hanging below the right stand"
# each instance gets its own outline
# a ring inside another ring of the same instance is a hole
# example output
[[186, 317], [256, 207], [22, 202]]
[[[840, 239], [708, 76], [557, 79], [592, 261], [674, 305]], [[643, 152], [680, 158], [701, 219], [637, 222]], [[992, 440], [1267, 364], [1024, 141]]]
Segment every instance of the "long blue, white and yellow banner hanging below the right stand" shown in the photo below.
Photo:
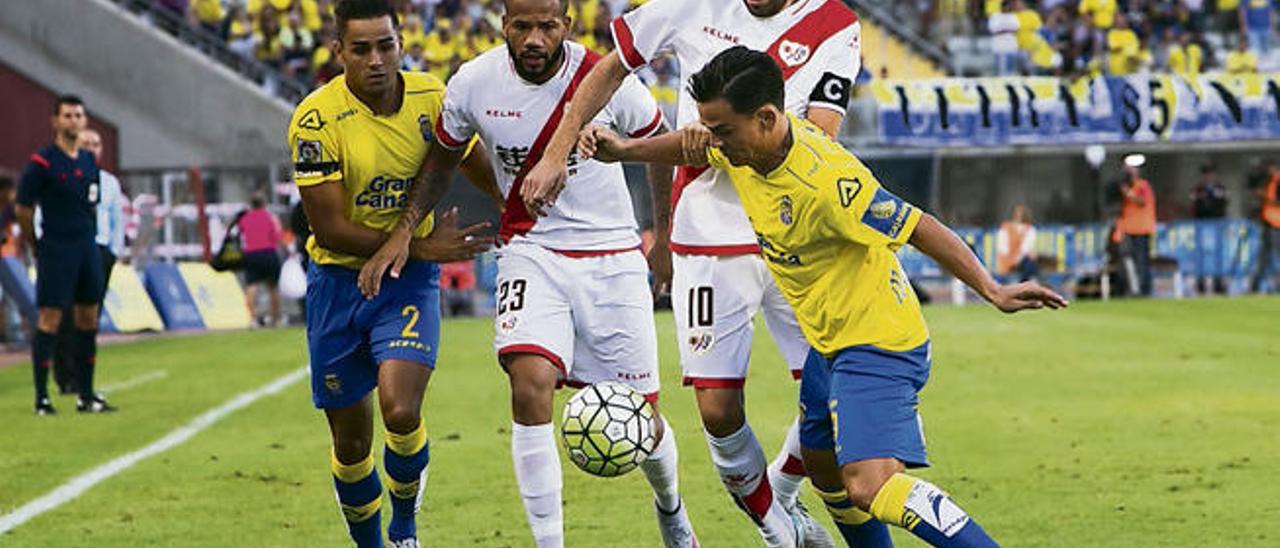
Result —
[[1280, 140], [1280, 73], [876, 81], [884, 145]]

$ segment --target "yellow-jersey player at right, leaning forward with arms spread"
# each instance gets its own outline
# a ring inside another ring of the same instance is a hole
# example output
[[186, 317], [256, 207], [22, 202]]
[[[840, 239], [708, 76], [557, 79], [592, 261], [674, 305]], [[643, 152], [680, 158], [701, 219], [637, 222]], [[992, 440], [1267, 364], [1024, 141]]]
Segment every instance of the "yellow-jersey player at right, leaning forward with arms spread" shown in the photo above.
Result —
[[997, 283], [947, 227], [884, 189], [817, 127], [785, 114], [782, 86], [768, 55], [733, 47], [691, 79], [704, 129], [622, 141], [590, 127], [580, 147], [600, 160], [709, 163], [730, 174], [813, 346], [800, 440], [810, 480], [828, 506], [845, 507], [842, 521], [876, 517], [937, 547], [996, 545], [946, 493], [904, 474], [928, 466], [916, 405], [931, 353], [895, 251], [911, 243], [1005, 312], [1068, 302], [1036, 283]]

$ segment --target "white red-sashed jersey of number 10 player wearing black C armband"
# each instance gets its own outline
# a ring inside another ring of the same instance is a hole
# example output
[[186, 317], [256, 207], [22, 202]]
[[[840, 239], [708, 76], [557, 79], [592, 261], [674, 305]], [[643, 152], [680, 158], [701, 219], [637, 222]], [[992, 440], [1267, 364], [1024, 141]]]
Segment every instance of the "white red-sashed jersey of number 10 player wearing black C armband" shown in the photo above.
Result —
[[[741, 0], [649, 0], [614, 19], [613, 38], [631, 70], [675, 52], [681, 82], [732, 46], [768, 51], [786, 78], [786, 108], [800, 117], [813, 106], [844, 114], [861, 67], [858, 15], [840, 0], [796, 0], [769, 18], [751, 15]], [[696, 120], [698, 106], [681, 90], [678, 125]], [[759, 251], [733, 186], [718, 170], [681, 169], [672, 204], [672, 251]]]

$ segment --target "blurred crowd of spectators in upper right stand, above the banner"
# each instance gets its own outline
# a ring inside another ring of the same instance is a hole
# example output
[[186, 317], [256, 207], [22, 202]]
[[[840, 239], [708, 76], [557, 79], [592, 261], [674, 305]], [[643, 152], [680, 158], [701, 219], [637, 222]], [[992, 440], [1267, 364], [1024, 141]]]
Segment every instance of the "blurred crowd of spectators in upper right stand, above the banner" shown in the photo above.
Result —
[[918, 0], [922, 36], [989, 36], [997, 74], [1256, 73], [1275, 0]]

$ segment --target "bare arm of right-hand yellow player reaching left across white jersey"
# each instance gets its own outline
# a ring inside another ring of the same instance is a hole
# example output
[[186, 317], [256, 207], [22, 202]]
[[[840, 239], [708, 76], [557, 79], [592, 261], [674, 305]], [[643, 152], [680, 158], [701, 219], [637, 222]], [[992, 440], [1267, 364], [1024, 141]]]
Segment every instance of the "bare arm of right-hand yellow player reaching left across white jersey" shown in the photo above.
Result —
[[[705, 129], [703, 129], [705, 131]], [[623, 138], [604, 125], [591, 124], [579, 134], [579, 154], [598, 161], [644, 161], [667, 165], [707, 165], [709, 136], [689, 127], [649, 138]]]

